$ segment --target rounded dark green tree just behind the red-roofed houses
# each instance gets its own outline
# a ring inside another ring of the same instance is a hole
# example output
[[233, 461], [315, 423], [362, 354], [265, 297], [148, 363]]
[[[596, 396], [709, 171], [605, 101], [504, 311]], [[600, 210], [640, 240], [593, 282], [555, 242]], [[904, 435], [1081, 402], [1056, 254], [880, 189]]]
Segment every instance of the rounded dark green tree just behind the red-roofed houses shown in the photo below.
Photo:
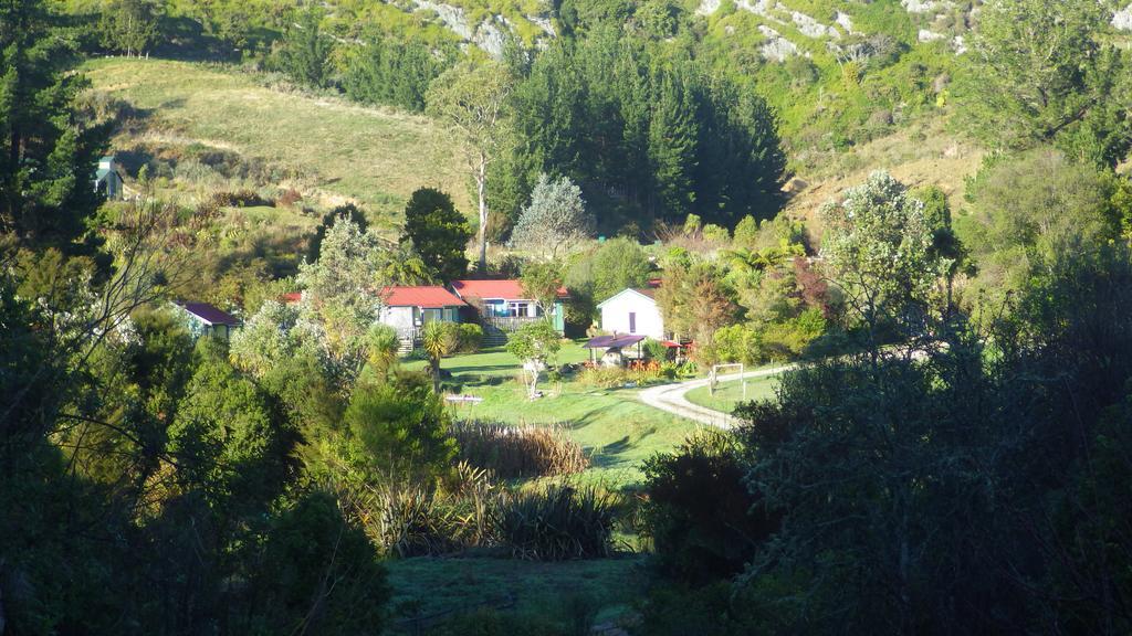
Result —
[[468, 220], [456, 212], [448, 195], [435, 188], [421, 188], [409, 197], [401, 241], [411, 242], [440, 281], [463, 278], [468, 273], [464, 250], [471, 238]]

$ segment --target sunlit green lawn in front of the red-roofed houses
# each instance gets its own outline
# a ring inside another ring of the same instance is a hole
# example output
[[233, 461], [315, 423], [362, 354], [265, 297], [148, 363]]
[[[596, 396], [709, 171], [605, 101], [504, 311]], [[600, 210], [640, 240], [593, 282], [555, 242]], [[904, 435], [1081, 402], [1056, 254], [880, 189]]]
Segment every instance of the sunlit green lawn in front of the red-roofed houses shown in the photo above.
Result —
[[[589, 352], [580, 343], [567, 343], [558, 355], [561, 363], [581, 362]], [[406, 363], [423, 368], [423, 361]], [[659, 450], [684, 441], [697, 424], [646, 406], [636, 389], [599, 389], [577, 381], [554, 387], [543, 380], [546, 397], [530, 401], [525, 387], [515, 381], [518, 361], [503, 349], [441, 361], [453, 373], [460, 392], [483, 398], [479, 404], [453, 406], [462, 419], [501, 420], [513, 423], [565, 423], [582, 445], [592, 465], [582, 478], [610, 487], [641, 479], [640, 464]]]

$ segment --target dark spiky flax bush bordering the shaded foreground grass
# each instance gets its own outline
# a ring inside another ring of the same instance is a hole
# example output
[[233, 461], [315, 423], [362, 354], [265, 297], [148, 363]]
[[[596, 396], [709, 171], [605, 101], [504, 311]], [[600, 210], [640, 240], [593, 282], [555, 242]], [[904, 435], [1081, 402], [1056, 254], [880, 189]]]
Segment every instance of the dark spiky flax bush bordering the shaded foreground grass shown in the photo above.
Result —
[[521, 492], [495, 510], [499, 539], [521, 559], [560, 561], [608, 557], [612, 550], [612, 497], [595, 488], [555, 484]]

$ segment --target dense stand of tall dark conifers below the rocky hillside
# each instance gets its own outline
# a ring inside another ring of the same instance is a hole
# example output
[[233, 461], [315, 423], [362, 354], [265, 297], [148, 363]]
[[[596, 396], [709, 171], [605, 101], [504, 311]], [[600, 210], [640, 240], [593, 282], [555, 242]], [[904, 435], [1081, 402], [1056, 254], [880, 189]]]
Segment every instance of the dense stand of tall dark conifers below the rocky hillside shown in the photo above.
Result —
[[521, 192], [539, 173], [565, 174], [610, 229], [693, 210], [724, 225], [772, 216], [786, 158], [763, 100], [618, 28], [556, 41], [534, 60], [514, 98], [524, 144], [500, 179]]

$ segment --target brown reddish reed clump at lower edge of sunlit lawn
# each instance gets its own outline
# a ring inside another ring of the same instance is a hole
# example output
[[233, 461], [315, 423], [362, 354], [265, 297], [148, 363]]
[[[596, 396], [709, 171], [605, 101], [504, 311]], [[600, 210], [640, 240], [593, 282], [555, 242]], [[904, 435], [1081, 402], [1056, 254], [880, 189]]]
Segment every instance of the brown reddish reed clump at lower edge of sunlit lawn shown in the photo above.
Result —
[[565, 475], [584, 471], [590, 461], [566, 435], [566, 427], [515, 427], [465, 420], [452, 428], [460, 456], [500, 479]]

